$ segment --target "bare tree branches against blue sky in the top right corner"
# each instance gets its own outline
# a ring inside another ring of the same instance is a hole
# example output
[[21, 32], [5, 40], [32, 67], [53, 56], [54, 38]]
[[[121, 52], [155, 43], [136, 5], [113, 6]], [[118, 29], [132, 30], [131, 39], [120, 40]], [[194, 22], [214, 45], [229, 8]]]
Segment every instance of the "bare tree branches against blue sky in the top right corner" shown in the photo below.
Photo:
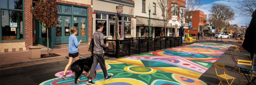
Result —
[[256, 9], [256, 0], [239, 0], [234, 7], [240, 16], [251, 17]]

